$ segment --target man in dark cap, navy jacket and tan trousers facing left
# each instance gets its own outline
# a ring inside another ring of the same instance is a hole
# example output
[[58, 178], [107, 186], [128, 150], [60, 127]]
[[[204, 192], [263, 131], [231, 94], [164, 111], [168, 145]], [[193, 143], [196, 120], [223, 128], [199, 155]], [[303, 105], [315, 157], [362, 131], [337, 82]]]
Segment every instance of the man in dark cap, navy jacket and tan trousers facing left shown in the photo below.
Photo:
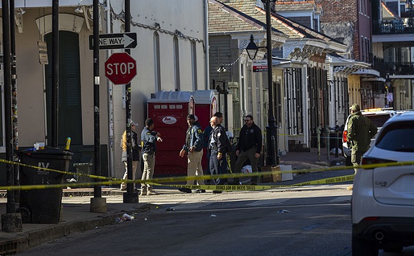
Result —
[[[195, 120], [194, 115], [187, 116], [188, 130], [186, 132], [186, 143], [179, 152], [180, 157], [188, 156], [187, 175], [188, 177], [203, 176], [203, 166], [201, 158], [203, 157], [203, 132], [199, 121]], [[194, 180], [188, 180], [186, 185], [194, 185]], [[204, 180], [197, 179], [197, 185], [204, 185]], [[181, 192], [191, 193], [190, 188], [179, 188]], [[205, 193], [204, 189], [195, 190], [196, 193]]]

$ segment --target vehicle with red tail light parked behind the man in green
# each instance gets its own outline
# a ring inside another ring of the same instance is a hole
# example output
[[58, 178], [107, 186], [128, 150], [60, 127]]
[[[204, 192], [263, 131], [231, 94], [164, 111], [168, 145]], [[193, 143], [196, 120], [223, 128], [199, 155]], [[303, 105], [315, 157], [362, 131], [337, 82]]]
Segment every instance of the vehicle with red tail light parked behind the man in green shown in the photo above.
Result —
[[[377, 126], [378, 131], [381, 130], [386, 120], [395, 115], [395, 111], [393, 110], [393, 108], [371, 108], [367, 110], [362, 110], [361, 113], [362, 115], [364, 115], [364, 117], [368, 117], [369, 119], [371, 119], [371, 121], [373, 121], [375, 126]], [[351, 115], [348, 115], [348, 117], [346, 118], [344, 132], [342, 132], [342, 154], [345, 157], [346, 166], [352, 166], [351, 148], [349, 148], [348, 146], [348, 138], [346, 137], [346, 135], [348, 135], [349, 117], [351, 117]], [[373, 141], [374, 139], [375, 138], [371, 139], [371, 141]]]

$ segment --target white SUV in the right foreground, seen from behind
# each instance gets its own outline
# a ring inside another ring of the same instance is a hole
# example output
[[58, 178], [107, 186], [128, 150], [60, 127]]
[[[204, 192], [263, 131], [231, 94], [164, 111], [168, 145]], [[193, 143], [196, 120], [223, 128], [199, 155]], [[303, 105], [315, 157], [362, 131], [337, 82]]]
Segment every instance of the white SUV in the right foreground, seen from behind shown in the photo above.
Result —
[[353, 181], [353, 255], [377, 255], [378, 250], [400, 252], [414, 245], [414, 165], [386, 166], [414, 161], [414, 111], [388, 119]]

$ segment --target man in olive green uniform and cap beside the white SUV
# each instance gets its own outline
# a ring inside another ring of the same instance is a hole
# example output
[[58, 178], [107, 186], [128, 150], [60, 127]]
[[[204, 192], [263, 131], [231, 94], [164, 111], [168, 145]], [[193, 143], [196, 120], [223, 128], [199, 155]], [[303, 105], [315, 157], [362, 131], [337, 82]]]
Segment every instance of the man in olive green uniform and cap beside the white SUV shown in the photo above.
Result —
[[351, 117], [348, 121], [348, 141], [351, 146], [351, 162], [357, 173], [357, 166], [361, 162], [361, 157], [368, 150], [371, 139], [377, 134], [377, 126], [361, 114], [358, 104], [351, 106]]

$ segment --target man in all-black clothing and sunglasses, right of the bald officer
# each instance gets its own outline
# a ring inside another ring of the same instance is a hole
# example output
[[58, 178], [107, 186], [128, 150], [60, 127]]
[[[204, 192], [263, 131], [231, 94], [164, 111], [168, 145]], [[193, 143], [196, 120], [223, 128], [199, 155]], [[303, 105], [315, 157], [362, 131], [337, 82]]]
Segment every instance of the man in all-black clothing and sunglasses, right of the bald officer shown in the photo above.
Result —
[[[262, 150], [262, 130], [253, 121], [251, 115], [244, 118], [245, 125], [240, 130], [239, 143], [236, 147], [236, 167], [235, 173], [241, 173], [244, 162], [248, 159], [252, 166], [252, 172], [257, 173], [257, 159], [260, 157]], [[239, 179], [234, 179], [239, 184]], [[251, 178], [252, 185], [257, 184], [257, 176]]]

